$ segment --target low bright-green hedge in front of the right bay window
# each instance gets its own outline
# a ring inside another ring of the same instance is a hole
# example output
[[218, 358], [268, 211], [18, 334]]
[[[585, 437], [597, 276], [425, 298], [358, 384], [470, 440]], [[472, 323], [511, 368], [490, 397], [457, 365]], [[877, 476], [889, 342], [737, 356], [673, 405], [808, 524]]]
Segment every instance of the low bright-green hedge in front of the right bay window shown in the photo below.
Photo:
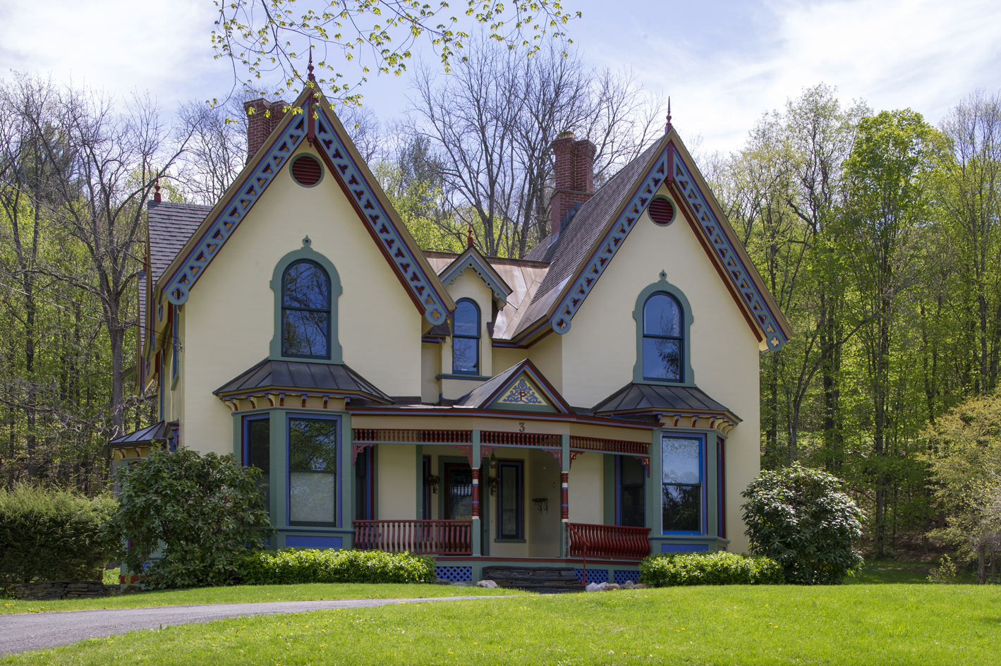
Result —
[[640, 563], [640, 582], [672, 585], [777, 585], [786, 582], [782, 565], [767, 557], [736, 553], [665, 553]]

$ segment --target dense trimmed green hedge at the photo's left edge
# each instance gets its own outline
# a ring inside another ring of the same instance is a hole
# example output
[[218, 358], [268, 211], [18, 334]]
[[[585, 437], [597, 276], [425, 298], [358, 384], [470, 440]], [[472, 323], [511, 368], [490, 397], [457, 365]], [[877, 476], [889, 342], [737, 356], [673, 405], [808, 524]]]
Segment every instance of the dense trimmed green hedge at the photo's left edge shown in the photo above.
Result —
[[0, 585], [101, 580], [107, 554], [101, 524], [114, 511], [110, 496], [16, 486], [0, 490]]

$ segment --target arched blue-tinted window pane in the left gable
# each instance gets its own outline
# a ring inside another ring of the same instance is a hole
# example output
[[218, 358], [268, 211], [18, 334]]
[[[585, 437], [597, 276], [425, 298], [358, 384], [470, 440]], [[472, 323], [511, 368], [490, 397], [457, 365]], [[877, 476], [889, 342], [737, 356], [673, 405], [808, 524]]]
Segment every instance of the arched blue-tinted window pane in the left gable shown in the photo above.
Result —
[[281, 276], [281, 356], [330, 358], [330, 277], [314, 261], [290, 263]]

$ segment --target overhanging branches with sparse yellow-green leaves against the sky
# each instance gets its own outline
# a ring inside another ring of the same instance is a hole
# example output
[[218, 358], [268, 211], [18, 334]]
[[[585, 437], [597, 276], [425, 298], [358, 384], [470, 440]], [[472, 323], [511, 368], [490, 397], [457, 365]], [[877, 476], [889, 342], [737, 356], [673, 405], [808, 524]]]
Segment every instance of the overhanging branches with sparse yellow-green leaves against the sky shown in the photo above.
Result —
[[[532, 56], [547, 37], [567, 40], [565, 26], [581, 17], [581, 12], [566, 11], [557, 0], [464, 0], [458, 11], [443, 1], [435, 7], [411, 0], [329, 0], [318, 3], [318, 8], [303, 7], [295, 0], [214, 2], [218, 17], [212, 46], [217, 58], [232, 61], [234, 72], [237, 67], [246, 70], [246, 78], [240, 79], [246, 90], [256, 90], [260, 80], [271, 74], [281, 76], [285, 89], [294, 87], [296, 81], [306, 79], [304, 54], [319, 48], [317, 83], [355, 103], [360, 99], [355, 89], [371, 68], [399, 76], [418, 40], [427, 39], [448, 71], [453, 63], [465, 60], [467, 30], [480, 28], [485, 39], [508, 48], [521, 47], [526, 56]], [[463, 15], [468, 17], [467, 29], [463, 29]], [[347, 62], [357, 61], [356, 80], [344, 82], [344, 74], [330, 64], [328, 56], [336, 58], [338, 52]]]

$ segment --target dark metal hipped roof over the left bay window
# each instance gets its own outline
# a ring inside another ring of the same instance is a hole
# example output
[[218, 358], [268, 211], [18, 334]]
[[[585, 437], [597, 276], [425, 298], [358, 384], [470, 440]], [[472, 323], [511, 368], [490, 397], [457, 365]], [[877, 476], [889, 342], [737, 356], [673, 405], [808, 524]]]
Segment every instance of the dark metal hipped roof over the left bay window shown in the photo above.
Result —
[[215, 396], [246, 394], [262, 389], [280, 388], [303, 392], [355, 394], [379, 403], [393, 400], [370, 382], [344, 365], [316, 364], [264, 359], [250, 370], [212, 392]]

